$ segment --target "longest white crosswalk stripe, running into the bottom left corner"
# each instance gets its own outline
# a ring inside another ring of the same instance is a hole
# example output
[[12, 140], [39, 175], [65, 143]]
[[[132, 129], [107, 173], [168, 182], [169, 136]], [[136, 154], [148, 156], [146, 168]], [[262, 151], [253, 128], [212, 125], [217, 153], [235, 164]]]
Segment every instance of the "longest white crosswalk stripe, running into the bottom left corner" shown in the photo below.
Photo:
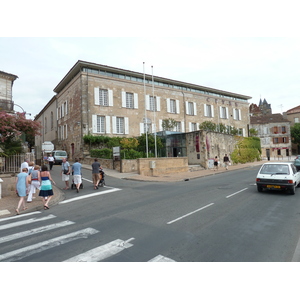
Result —
[[0, 261], [15, 261], [23, 259], [27, 256], [57, 247], [71, 241], [87, 238], [89, 235], [98, 233], [99, 231], [93, 228], [86, 228], [76, 232], [72, 232], [66, 235], [59, 236], [54, 239], [50, 239], [41, 243], [37, 243], [28, 247], [17, 249], [11, 252], [4, 253], [0, 255]]

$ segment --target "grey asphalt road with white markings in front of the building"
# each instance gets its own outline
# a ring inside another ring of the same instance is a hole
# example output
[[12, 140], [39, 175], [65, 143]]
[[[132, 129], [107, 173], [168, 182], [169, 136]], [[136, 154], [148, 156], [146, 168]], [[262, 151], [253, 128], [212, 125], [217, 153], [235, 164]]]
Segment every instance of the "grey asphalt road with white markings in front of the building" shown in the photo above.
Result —
[[79, 194], [0, 219], [0, 261], [298, 260], [300, 189], [258, 193], [257, 168], [173, 183], [107, 177], [96, 191], [83, 170]]

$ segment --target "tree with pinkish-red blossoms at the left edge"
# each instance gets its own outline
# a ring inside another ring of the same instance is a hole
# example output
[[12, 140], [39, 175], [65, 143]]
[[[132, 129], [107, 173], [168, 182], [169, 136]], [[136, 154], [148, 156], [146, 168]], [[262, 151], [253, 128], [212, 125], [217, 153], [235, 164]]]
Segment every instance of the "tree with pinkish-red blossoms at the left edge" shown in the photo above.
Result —
[[24, 113], [8, 114], [0, 112], [0, 148], [6, 155], [22, 152], [24, 141], [33, 146], [32, 137], [40, 134], [40, 122], [27, 120]]

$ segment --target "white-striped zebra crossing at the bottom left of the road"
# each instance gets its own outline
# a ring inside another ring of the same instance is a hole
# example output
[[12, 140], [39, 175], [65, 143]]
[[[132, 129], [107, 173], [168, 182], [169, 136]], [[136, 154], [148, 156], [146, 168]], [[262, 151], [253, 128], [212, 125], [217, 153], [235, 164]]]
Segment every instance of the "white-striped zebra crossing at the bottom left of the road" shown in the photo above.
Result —
[[[71, 232], [68, 230], [68, 233], [64, 231], [62, 234], [60, 230], [66, 228], [71, 230], [72, 226], [78, 227], [78, 224], [69, 220], [56, 222], [56, 219], [57, 217], [53, 214], [44, 215], [41, 212], [33, 212], [26, 215], [0, 219], [0, 262], [13, 262], [24, 259], [26, 259], [25, 261], [31, 261], [31, 259], [38, 254], [47, 251], [53, 253], [59, 247], [68, 247], [70, 244], [72, 244], [72, 247], [69, 246], [71, 249], [66, 251], [70, 256], [60, 261], [100, 262], [106, 259], [109, 260], [110, 258], [113, 258], [114, 255], [134, 247], [133, 242], [135, 238], [133, 237], [127, 240], [115, 239], [97, 245], [87, 251], [82, 251], [82, 253], [72, 255], [72, 253], [74, 254], [74, 248], [84, 248], [82, 247], [82, 244], [79, 244], [78, 247], [76, 247], [74, 245], [77, 244], [74, 243], [80, 243], [83, 239], [92, 238], [93, 236], [100, 234], [100, 231], [88, 227], [83, 229], [76, 228]], [[15, 232], [16, 230], [18, 230], [18, 232]], [[49, 233], [51, 233], [51, 237], [45, 239], [45, 236], [48, 237]], [[35, 237], [35, 241], [38, 242], [32, 243], [32, 237]], [[42, 240], [39, 241], [39, 239]], [[17, 245], [17, 249], [15, 249], [15, 245]], [[12, 247], [14, 247], [14, 249], [11, 249]], [[4, 253], [2, 253], [2, 251]], [[174, 262], [174, 260], [160, 254], [146, 261]]]

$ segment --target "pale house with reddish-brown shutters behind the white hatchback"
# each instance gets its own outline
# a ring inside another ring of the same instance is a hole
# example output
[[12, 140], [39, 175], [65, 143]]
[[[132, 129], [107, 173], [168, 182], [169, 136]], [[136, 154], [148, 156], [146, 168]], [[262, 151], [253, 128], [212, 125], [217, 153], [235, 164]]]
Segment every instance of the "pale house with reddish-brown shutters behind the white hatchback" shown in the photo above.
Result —
[[282, 158], [292, 154], [290, 121], [281, 114], [251, 116], [251, 128], [258, 132], [263, 158]]

